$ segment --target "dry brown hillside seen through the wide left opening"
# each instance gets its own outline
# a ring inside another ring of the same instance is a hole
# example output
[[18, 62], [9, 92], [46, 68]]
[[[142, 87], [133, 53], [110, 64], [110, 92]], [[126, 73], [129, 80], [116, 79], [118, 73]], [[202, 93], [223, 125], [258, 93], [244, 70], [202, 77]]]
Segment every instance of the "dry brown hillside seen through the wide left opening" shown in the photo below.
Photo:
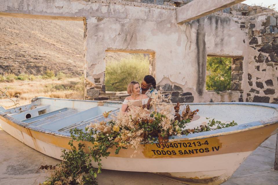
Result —
[[0, 17], [0, 74], [83, 73], [83, 22]]

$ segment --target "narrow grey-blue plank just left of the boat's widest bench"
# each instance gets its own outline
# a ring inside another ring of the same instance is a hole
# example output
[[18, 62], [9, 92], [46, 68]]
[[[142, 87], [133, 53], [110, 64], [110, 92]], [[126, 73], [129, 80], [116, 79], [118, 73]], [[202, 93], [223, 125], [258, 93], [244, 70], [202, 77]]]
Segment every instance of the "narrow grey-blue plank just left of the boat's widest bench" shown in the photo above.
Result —
[[44, 125], [46, 123], [51, 123], [53, 121], [65, 118], [67, 116], [70, 116], [70, 115], [73, 115], [73, 114], [76, 114], [76, 113], [77, 113], [76, 109], [69, 109], [67, 111], [60, 112], [58, 114], [54, 114], [54, 115], [51, 115], [51, 116], [48, 116], [48, 117], [45, 117], [45, 118], [42, 118], [42, 119], [30, 122], [29, 124], [38, 127], [40, 125]]

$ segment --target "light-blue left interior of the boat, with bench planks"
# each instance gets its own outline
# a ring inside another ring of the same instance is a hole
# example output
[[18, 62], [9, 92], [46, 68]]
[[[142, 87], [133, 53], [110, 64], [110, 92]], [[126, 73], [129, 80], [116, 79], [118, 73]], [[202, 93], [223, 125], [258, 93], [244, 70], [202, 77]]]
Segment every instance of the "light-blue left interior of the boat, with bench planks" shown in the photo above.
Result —
[[[90, 123], [107, 121], [111, 119], [111, 115], [116, 115], [116, 112], [120, 109], [96, 106], [83, 111], [78, 111], [74, 108], [49, 110], [50, 105], [35, 106], [31, 110], [13, 113], [10, 116], [37, 128], [69, 133], [72, 128], [83, 129], [85, 131], [85, 127]], [[105, 118], [103, 112], [109, 112], [111, 115]]]

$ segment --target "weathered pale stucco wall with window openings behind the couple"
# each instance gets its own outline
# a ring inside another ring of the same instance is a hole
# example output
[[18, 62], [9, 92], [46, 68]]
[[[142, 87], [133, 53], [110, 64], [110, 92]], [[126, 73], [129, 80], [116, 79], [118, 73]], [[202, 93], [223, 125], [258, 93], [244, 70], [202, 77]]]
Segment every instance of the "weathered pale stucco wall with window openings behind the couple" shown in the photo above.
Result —
[[[94, 82], [100, 78], [98, 83], [103, 84], [107, 49], [151, 51], [156, 55], [158, 85], [179, 86], [183, 92], [191, 92], [195, 102], [238, 101], [240, 92], [218, 95], [205, 90], [207, 55], [248, 59], [248, 43], [243, 41], [248, 37], [233, 18], [210, 15], [187, 25], [178, 25], [173, 10], [153, 10], [153, 16], [153, 19], [88, 18], [87, 79]], [[247, 69], [246, 61], [244, 70]], [[247, 73], [244, 76], [247, 77]]]

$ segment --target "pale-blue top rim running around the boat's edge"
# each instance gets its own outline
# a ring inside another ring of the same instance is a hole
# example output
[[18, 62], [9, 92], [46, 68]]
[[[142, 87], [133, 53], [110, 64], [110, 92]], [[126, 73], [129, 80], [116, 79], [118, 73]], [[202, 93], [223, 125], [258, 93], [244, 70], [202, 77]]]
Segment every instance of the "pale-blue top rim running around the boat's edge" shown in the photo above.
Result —
[[[72, 99], [59, 99], [59, 98], [48, 98], [48, 97], [37, 97], [37, 98], [32, 99], [32, 102], [37, 100], [37, 99], [57, 99], [57, 100], [86, 101], [86, 102], [115, 103], [115, 104], [122, 103], [121, 101], [72, 100]], [[263, 106], [263, 107], [274, 108], [278, 111], [278, 105], [276, 105], [276, 104], [254, 103], [254, 102], [180, 103], [180, 105], [250, 105], [250, 106], [255, 105], [255, 106]], [[33, 131], [42, 132], [42, 133], [50, 134], [50, 135], [54, 135], [54, 136], [71, 138], [69, 133], [58, 132], [58, 131], [53, 131], [53, 130], [49, 130], [49, 129], [43, 129], [43, 128], [40, 128], [40, 127], [35, 127], [35, 126], [29, 125], [27, 123], [24, 123], [22, 121], [19, 121], [17, 119], [14, 119], [12, 116], [9, 116], [8, 114], [6, 114], [4, 112], [1, 112], [1, 111], [0, 111], [0, 116], [2, 116], [5, 119], [8, 119], [8, 120], [12, 121], [13, 123], [15, 123], [15, 124], [17, 124], [21, 127], [31, 129]], [[233, 134], [233, 133], [238, 133], [238, 132], [244, 132], [244, 131], [247, 131], [247, 130], [250, 130], [250, 129], [256, 129], [256, 128], [259, 128], [259, 127], [264, 127], [264, 126], [267, 126], [267, 125], [272, 125], [272, 124], [275, 124], [275, 123], [278, 123], [278, 116], [272, 117], [270, 119], [264, 119], [264, 120], [249, 122], [249, 123], [236, 125], [236, 126], [233, 126], [233, 127], [217, 129], [217, 130], [199, 132], [199, 133], [188, 134], [188, 135], [184, 134], [184, 135], [181, 135], [181, 136], [169, 136], [169, 141], [168, 142], [178, 141], [178, 140], [181, 140], [181, 139], [183, 139], [183, 140], [184, 139], [194, 140], [194, 139], [201, 139], [201, 138], [209, 138], [209, 137], [228, 135], [228, 134]]]

